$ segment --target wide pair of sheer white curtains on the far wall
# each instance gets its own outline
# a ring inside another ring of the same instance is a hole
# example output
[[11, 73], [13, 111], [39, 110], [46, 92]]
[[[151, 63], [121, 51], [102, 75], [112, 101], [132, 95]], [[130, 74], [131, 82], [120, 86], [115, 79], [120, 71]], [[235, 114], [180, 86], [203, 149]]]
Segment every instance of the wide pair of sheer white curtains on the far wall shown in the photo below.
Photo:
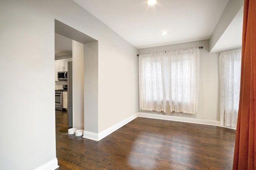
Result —
[[199, 49], [139, 55], [140, 109], [195, 114], [198, 103]]

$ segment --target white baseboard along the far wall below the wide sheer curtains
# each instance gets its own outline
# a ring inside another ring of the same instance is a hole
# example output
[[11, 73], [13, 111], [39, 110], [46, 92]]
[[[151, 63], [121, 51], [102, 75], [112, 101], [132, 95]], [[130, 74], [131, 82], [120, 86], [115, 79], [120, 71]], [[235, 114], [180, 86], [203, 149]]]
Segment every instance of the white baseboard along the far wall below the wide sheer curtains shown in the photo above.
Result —
[[203, 125], [214, 125], [214, 126], [220, 125], [220, 121], [196, 119], [196, 118], [190, 118], [190, 117], [178, 117], [178, 116], [170, 116], [170, 115], [158, 115], [158, 114], [152, 114], [152, 113], [138, 112], [138, 117], [146, 117], [151, 119], [161, 119], [161, 120], [170, 120], [170, 121], [181, 121], [181, 122], [196, 123], [196, 124], [203, 124]]

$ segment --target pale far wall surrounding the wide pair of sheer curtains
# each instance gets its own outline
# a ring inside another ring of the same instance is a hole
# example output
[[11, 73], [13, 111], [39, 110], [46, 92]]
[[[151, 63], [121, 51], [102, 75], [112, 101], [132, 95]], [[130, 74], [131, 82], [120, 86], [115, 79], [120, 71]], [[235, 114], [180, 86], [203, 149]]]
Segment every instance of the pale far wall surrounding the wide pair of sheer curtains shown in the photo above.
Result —
[[[197, 119], [220, 120], [219, 104], [219, 55], [209, 53], [209, 40], [193, 41], [188, 43], [179, 43], [139, 49], [138, 53], [151, 53], [158, 51], [168, 51], [171, 49], [185, 49], [192, 47], [201, 47], [200, 49], [200, 80], [199, 80], [199, 99], [198, 113], [195, 115], [187, 113], [171, 113], [174, 116], [191, 117]], [[140, 110], [139, 110], [140, 111]], [[140, 111], [146, 113], [157, 113], [151, 111]], [[163, 114], [163, 113], [158, 113]]]

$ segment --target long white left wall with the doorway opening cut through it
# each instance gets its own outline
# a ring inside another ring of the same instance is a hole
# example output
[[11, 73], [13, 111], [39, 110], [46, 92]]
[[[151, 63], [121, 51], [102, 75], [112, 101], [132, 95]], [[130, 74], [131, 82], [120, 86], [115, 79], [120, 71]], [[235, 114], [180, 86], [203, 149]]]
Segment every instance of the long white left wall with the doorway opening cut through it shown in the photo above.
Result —
[[[1, 169], [56, 168], [54, 19], [97, 39], [98, 131], [137, 112], [137, 49], [72, 0], [0, 1]], [[38, 78], [39, 77], [39, 78]], [[50, 167], [50, 166], [48, 166]]]

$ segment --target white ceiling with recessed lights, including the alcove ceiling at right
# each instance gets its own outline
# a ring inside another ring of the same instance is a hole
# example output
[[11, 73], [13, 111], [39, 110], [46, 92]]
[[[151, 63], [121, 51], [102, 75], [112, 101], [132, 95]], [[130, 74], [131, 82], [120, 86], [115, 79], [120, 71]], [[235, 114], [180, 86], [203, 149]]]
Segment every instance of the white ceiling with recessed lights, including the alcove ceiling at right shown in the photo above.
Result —
[[[141, 49], [209, 39], [228, 0], [74, 0], [134, 47]], [[167, 35], [161, 35], [167, 31]], [[242, 44], [242, 12], [238, 12], [213, 51]], [[62, 44], [64, 41], [61, 41]]]

